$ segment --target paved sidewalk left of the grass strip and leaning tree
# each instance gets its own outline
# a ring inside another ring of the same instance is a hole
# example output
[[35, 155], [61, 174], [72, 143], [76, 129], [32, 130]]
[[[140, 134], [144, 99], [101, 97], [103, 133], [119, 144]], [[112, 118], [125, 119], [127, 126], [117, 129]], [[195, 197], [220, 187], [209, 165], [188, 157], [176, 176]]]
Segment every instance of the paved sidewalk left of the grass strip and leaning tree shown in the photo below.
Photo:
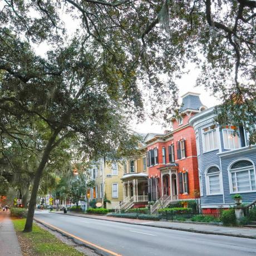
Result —
[[0, 212], [0, 255], [22, 256], [21, 247], [9, 215], [9, 212]]

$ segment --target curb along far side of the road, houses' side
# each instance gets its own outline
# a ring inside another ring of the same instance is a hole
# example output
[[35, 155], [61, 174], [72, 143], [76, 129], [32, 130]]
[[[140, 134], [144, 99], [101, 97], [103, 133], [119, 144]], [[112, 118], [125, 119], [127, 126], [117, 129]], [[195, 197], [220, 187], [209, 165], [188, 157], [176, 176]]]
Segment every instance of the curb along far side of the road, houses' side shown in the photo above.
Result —
[[[70, 215], [70, 216], [75, 216], [75, 217], [80, 217], [80, 218], [87, 218], [87, 219], [105, 220], [105, 219], [99, 219], [99, 218], [92, 218], [92, 217], [88, 217], [88, 216], [77, 216], [77, 215], [64, 214], [64, 213], [55, 213], [55, 214]], [[164, 229], [171, 229], [171, 230], [179, 230], [179, 231], [184, 231], [184, 232], [200, 233], [200, 234], [206, 234], [206, 235], [224, 235], [225, 237], [238, 237], [238, 238], [256, 239], [256, 236], [252, 236], [252, 235], [228, 234], [228, 233], [221, 233], [221, 232], [208, 232], [208, 231], [203, 231], [203, 230], [174, 228], [174, 227], [158, 227], [158, 226], [150, 225], [150, 224], [130, 223], [130, 222], [127, 222], [127, 221], [120, 221], [120, 220], [106, 220], [106, 221], [113, 221], [113, 222], [125, 223], [125, 224], [131, 224], [131, 225], [146, 226], [146, 227], [152, 227], [152, 228], [164, 228]]]

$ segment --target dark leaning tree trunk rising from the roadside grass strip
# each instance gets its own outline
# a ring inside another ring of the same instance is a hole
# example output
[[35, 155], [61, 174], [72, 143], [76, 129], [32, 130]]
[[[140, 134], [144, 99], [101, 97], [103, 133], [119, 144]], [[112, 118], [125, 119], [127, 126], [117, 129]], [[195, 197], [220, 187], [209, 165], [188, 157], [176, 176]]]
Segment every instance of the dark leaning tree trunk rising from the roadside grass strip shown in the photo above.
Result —
[[43, 152], [43, 156], [40, 162], [40, 165], [37, 168], [34, 183], [33, 183], [33, 188], [31, 192], [31, 198], [29, 200], [29, 205], [28, 205], [28, 215], [27, 215], [27, 220], [26, 220], [26, 225], [23, 230], [23, 232], [31, 232], [32, 231], [32, 225], [33, 225], [33, 218], [34, 218], [34, 213], [35, 213], [35, 206], [36, 206], [36, 198], [37, 198], [37, 191], [39, 188], [41, 176], [43, 173], [43, 169], [46, 166], [46, 163], [49, 159], [49, 155], [52, 151], [52, 145], [53, 142], [55, 141], [58, 133], [60, 132], [61, 129], [55, 130], [53, 133], [52, 137], [50, 140], [48, 140], [47, 146], [45, 151]]

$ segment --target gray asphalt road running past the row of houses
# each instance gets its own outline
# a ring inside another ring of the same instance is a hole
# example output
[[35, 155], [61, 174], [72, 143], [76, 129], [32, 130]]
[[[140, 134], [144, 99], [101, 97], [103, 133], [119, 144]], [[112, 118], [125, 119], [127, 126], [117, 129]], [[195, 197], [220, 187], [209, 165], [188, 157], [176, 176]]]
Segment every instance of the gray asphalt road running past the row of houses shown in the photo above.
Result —
[[144, 227], [46, 211], [36, 211], [35, 218], [124, 256], [256, 255], [254, 239]]

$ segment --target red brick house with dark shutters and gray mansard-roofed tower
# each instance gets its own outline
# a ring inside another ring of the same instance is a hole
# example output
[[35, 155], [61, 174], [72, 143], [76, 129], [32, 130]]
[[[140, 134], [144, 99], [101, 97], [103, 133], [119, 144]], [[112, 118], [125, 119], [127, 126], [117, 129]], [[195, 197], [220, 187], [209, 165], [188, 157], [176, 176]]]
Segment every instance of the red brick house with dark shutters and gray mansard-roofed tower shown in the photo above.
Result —
[[198, 93], [182, 96], [181, 119], [172, 119], [173, 130], [147, 134], [149, 201], [156, 201], [151, 212], [171, 201], [199, 198], [198, 160], [195, 132], [189, 118], [205, 110]]

